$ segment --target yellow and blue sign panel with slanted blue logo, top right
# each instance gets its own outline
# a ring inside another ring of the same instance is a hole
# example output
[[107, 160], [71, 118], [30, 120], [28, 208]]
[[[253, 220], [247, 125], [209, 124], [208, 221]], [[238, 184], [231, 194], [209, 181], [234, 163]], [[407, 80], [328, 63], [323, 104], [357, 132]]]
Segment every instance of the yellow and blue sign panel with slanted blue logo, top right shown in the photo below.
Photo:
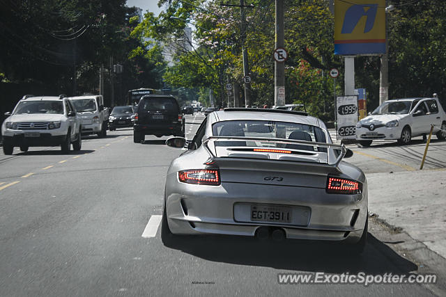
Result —
[[334, 0], [334, 54], [385, 53], [385, 0]]

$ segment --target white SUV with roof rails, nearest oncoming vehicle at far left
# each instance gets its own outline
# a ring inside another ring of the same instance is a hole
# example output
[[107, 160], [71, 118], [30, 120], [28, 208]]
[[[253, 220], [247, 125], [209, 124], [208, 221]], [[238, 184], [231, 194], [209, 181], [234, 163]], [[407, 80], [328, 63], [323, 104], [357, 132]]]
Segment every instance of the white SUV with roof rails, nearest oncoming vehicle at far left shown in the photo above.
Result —
[[24, 96], [1, 125], [3, 153], [13, 154], [15, 146], [26, 152], [30, 146], [61, 145], [68, 152], [71, 144], [80, 150], [80, 119], [70, 100], [59, 97]]

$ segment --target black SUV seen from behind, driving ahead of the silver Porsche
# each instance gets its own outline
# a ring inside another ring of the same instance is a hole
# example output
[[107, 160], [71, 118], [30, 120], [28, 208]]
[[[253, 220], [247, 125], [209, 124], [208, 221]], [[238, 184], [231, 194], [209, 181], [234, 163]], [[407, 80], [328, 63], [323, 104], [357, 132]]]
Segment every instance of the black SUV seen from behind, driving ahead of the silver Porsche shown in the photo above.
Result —
[[185, 121], [180, 106], [172, 95], [146, 95], [134, 114], [133, 141], [144, 141], [145, 135], [184, 137]]

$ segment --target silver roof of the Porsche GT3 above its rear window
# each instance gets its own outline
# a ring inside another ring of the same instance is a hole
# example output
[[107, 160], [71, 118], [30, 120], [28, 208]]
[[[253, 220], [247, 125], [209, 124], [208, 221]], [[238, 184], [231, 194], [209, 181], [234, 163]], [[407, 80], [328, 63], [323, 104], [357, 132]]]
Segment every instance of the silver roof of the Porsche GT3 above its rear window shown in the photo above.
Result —
[[322, 127], [321, 121], [310, 115], [303, 115], [293, 112], [280, 112], [277, 109], [259, 109], [259, 111], [215, 111], [217, 120], [222, 122], [226, 120], [274, 120], [277, 122], [295, 122], [299, 124]]

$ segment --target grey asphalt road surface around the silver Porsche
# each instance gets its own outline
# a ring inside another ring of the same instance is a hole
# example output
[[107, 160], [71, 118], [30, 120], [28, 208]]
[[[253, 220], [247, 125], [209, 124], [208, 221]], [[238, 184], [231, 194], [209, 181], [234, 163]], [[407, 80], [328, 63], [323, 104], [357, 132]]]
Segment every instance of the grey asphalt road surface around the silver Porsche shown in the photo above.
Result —
[[[187, 118], [188, 137], [202, 119]], [[121, 129], [85, 138], [81, 152], [0, 154], [0, 296], [431, 295], [419, 284], [278, 284], [277, 273], [417, 271], [374, 231], [360, 258], [328, 244], [233, 237], [164, 247], [164, 179], [180, 154], [165, 139], [136, 144]]]

